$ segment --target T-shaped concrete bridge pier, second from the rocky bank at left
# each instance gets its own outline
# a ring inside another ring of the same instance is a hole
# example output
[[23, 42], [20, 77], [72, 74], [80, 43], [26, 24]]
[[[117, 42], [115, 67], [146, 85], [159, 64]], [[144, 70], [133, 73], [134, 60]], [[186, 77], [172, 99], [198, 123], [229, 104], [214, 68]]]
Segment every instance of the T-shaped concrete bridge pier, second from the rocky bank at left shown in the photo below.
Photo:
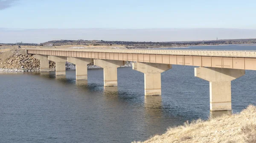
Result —
[[64, 75], [66, 75], [67, 57], [64, 57], [64, 56], [49, 56], [48, 59], [50, 61], [55, 62], [56, 76], [64, 76]]

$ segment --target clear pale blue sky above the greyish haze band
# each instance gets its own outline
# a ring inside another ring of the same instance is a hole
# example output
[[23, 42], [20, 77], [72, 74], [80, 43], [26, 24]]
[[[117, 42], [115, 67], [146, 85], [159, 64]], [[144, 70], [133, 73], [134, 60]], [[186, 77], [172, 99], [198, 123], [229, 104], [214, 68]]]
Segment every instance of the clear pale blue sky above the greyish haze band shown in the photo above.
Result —
[[49, 39], [62, 38], [49, 29], [131, 29], [135, 35], [136, 29], [256, 29], [255, 6], [256, 0], [0, 0], [0, 36], [41, 29]]

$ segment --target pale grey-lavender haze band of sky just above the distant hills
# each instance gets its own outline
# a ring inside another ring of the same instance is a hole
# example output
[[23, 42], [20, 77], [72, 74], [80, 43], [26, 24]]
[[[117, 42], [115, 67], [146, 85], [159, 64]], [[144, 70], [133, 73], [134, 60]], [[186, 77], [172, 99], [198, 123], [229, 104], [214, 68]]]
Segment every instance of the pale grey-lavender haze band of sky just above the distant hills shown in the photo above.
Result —
[[42, 43], [51, 40], [105, 40], [172, 42], [218, 39], [253, 39], [256, 29], [235, 28], [67, 28], [67, 29], [15, 29], [0, 28], [0, 43]]

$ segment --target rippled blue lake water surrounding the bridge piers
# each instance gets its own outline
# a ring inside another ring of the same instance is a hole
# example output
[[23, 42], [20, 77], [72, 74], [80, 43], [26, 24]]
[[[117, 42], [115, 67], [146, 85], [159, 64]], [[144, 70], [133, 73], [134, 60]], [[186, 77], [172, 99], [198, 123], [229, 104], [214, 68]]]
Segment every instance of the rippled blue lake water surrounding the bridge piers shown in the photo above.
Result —
[[[0, 73], [0, 143], [129, 143], [210, 115], [209, 82], [192, 66], [162, 73], [162, 96], [153, 97], [144, 96], [144, 75], [131, 67], [118, 68], [118, 87], [103, 87], [102, 69], [88, 75]], [[246, 70], [232, 81], [233, 113], [256, 105], [255, 75]]]

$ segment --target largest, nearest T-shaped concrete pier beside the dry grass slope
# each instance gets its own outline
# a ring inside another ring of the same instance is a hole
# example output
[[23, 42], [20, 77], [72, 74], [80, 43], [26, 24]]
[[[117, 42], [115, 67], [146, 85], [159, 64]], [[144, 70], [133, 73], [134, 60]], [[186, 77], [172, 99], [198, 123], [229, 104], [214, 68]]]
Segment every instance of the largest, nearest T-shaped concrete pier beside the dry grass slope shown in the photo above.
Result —
[[245, 74], [244, 70], [195, 67], [195, 76], [210, 82], [210, 111], [231, 110], [231, 81]]

